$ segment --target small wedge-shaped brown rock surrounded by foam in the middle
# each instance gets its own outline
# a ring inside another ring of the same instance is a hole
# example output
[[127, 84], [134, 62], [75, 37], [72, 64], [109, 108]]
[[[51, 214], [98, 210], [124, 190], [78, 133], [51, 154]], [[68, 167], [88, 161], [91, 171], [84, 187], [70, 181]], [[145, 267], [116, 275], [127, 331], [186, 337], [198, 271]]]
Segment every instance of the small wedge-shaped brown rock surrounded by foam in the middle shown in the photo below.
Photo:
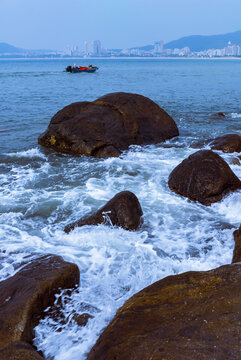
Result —
[[141, 223], [143, 212], [135, 194], [130, 191], [121, 191], [96, 213], [67, 225], [64, 231], [69, 233], [78, 226], [101, 224], [106, 221], [106, 215], [112, 225], [126, 230], [136, 230]]

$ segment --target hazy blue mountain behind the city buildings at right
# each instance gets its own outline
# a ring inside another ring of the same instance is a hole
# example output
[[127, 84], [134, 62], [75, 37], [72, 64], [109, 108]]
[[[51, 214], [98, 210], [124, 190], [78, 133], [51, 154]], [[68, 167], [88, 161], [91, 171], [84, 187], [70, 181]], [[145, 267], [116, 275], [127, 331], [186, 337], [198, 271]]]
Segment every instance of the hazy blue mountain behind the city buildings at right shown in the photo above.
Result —
[[223, 49], [228, 42], [236, 45], [241, 45], [241, 31], [235, 31], [223, 35], [192, 35], [182, 37], [178, 40], [171, 41], [164, 45], [165, 49], [182, 49], [186, 46], [191, 51], [203, 51], [208, 49]]

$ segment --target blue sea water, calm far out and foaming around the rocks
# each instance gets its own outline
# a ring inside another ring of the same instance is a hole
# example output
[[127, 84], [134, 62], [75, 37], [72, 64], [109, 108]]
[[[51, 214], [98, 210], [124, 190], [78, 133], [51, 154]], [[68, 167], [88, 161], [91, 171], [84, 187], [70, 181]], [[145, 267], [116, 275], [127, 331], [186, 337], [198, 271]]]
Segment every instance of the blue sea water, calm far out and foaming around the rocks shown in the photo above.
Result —
[[[167, 185], [172, 169], [197, 151], [192, 142], [241, 135], [241, 60], [91, 61], [97, 73], [65, 73], [66, 60], [0, 61], [0, 279], [48, 253], [80, 269], [80, 286], [56, 298], [59, 317], [46, 313], [35, 329], [35, 345], [46, 359], [84, 360], [116, 310], [154, 281], [230, 263], [232, 233], [241, 223], [240, 191], [205, 207]], [[38, 145], [62, 107], [116, 91], [154, 100], [174, 118], [180, 136], [109, 159]], [[220, 111], [225, 118], [211, 116]], [[241, 178], [241, 166], [232, 165], [237, 154], [218, 153]], [[122, 190], [139, 198], [139, 231], [99, 225], [63, 232]], [[93, 318], [80, 327], [74, 312]]]

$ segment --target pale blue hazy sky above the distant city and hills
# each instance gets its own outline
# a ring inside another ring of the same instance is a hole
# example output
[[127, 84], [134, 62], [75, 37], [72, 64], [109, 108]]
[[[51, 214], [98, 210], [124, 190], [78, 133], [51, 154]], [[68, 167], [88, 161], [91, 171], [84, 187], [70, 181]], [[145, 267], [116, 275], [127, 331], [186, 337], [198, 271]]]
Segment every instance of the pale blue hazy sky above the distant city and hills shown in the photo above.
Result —
[[241, 0], [0, 0], [0, 42], [61, 50], [165, 43], [241, 30]]

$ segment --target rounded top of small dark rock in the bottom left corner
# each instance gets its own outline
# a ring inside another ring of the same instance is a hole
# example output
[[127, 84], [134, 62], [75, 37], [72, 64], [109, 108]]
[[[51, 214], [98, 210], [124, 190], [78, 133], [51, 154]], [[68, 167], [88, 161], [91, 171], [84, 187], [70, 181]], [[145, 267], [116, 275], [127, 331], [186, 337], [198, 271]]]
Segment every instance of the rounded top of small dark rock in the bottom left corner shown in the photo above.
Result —
[[1, 360], [44, 360], [28, 343], [17, 341], [0, 350]]

